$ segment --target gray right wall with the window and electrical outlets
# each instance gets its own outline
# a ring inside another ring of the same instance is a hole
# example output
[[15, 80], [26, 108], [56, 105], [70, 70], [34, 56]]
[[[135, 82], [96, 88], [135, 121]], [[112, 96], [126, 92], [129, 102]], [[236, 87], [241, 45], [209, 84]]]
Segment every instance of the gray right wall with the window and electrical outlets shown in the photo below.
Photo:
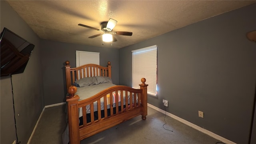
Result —
[[[132, 52], [158, 45], [159, 97], [148, 102], [238, 144], [249, 141], [256, 80], [256, 4], [120, 49], [119, 83], [132, 84]], [[204, 118], [198, 117], [198, 110]], [[254, 134], [255, 136], [255, 134]]]

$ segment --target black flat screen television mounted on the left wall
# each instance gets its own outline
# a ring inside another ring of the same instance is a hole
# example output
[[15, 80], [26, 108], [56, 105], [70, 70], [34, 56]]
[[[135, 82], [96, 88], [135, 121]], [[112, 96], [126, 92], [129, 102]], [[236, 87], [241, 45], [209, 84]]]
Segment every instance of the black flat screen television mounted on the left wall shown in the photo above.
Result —
[[33, 52], [34, 44], [4, 28], [0, 39], [1, 76], [23, 73]]

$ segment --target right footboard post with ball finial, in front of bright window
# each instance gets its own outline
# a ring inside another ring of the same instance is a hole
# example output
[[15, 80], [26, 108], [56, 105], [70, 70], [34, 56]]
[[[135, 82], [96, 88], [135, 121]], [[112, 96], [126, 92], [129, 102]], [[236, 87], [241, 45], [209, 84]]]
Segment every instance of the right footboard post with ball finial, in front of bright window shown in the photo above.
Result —
[[146, 78], [141, 79], [142, 84], [140, 85], [140, 89], [142, 89], [142, 120], [146, 120], [146, 115], [148, 115], [148, 84], [145, 84]]

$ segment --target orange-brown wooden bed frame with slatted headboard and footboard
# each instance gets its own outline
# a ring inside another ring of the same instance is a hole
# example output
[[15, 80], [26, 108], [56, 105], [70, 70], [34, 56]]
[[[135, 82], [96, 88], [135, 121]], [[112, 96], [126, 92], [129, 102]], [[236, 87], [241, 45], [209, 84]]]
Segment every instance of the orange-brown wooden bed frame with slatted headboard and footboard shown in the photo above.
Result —
[[[76, 93], [76, 87], [72, 84], [82, 77], [91, 77], [91, 76], [108, 76], [111, 78], [111, 65], [108, 62], [107, 67], [102, 67], [96, 64], [86, 64], [79, 66], [77, 68], [70, 68], [70, 62], [66, 61], [66, 82], [69, 96], [66, 97], [66, 102], [68, 106], [68, 128], [69, 128], [69, 139], [70, 144], [80, 144], [80, 140], [88, 138], [94, 134], [102, 132], [108, 128], [116, 126], [122, 122], [130, 120], [136, 116], [142, 115], [142, 119], [146, 120], [147, 115], [147, 86], [145, 84], [146, 79], [142, 78], [140, 84], [140, 89], [130, 88], [128, 86], [112, 86], [107, 88], [98, 94], [87, 98], [85, 100], [80, 100]], [[116, 113], [113, 112], [113, 100], [110, 96], [110, 116], [107, 114], [107, 102], [106, 95], [111, 94], [112, 92], [116, 93], [116, 100], [118, 100], [117, 93], [120, 91], [120, 102], [121, 110], [116, 108]], [[125, 93], [125, 94], [123, 94]], [[130, 98], [130, 105], [128, 104], [127, 94], [132, 94], [138, 96], [138, 103], [132, 104], [132, 98]], [[100, 98], [104, 98], [104, 118], [101, 118], [100, 111]], [[98, 106], [98, 120], [94, 120], [94, 107], [93, 103], [97, 102]], [[122, 105], [124, 105], [123, 108]], [[90, 105], [91, 112], [91, 122], [87, 123], [86, 121], [86, 106]], [[79, 126], [78, 120], [78, 108], [82, 108], [83, 113], [83, 125]]]

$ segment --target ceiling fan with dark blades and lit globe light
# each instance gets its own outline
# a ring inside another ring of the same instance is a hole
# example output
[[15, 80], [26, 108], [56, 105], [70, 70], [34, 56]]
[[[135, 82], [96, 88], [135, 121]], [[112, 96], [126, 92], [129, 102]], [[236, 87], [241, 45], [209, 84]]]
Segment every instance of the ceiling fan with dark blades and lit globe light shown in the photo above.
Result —
[[122, 32], [122, 31], [114, 32], [113, 28], [116, 26], [116, 23], [117, 23], [116, 20], [110, 18], [108, 20], [108, 22], [102, 22], [100, 24], [101, 30], [98, 28], [91, 27], [91, 26], [86, 26], [84, 24], [78, 24], [78, 26], [83, 26], [86, 28], [91, 28], [91, 29], [103, 32], [102, 34], [95, 34], [95, 35], [89, 37], [89, 38], [95, 38], [97, 36], [102, 35], [103, 42], [116, 42], [117, 39], [112, 34], [123, 35], [123, 36], [132, 36], [132, 32]]

